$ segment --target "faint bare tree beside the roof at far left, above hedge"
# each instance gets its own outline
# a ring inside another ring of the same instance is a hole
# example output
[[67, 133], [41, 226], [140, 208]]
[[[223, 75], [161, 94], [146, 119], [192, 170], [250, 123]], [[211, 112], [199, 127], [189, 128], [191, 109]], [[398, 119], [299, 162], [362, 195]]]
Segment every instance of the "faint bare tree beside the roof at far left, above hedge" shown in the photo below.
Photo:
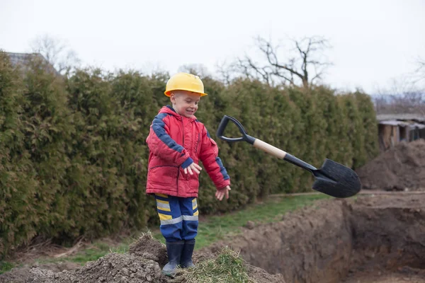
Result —
[[77, 53], [57, 37], [38, 36], [30, 42], [30, 48], [33, 52], [42, 54], [61, 74], [80, 63]]

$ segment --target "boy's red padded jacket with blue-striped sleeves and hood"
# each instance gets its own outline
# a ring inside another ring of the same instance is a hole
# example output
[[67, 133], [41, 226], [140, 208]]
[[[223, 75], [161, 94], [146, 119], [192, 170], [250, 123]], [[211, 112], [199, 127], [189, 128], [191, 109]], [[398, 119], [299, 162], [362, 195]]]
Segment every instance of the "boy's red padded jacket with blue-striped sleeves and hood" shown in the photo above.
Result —
[[199, 161], [217, 189], [230, 185], [217, 144], [195, 116], [184, 117], [164, 106], [154, 118], [146, 142], [150, 150], [147, 194], [198, 197], [198, 174], [186, 175], [183, 169]]

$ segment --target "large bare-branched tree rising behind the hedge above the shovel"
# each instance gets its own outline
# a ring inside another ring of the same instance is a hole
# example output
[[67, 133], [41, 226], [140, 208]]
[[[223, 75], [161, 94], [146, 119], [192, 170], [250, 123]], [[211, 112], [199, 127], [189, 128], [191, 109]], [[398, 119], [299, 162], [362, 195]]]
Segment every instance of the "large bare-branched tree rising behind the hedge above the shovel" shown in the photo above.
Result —
[[290, 40], [292, 48], [285, 56], [278, 55], [279, 45], [274, 46], [271, 40], [256, 38], [256, 47], [265, 58], [265, 62], [255, 62], [253, 57], [245, 55], [234, 64], [248, 78], [261, 79], [271, 86], [276, 84], [296, 85], [298, 82], [309, 87], [314, 81], [322, 79], [325, 69], [331, 63], [324, 59], [324, 50], [330, 47], [324, 37], [303, 37]]

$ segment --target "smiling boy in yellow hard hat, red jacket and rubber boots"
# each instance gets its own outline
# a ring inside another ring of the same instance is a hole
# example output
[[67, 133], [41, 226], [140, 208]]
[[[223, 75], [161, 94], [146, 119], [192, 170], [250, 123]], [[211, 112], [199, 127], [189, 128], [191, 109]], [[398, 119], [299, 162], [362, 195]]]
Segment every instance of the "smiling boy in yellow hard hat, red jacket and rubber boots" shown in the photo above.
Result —
[[198, 174], [202, 161], [217, 187], [215, 197], [229, 198], [230, 178], [218, 157], [218, 147], [195, 117], [204, 93], [203, 82], [193, 74], [179, 73], [166, 83], [171, 105], [159, 110], [150, 127], [146, 192], [155, 195], [166, 239], [169, 262], [162, 272], [173, 277], [176, 267], [194, 267], [192, 262], [198, 231]]

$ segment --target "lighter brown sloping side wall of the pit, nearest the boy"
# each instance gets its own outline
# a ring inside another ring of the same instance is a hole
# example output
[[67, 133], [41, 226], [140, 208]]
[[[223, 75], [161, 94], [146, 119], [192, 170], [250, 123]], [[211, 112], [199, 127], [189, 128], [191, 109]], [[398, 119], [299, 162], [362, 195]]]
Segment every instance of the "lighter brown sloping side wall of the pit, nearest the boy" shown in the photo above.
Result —
[[229, 246], [251, 265], [282, 273], [286, 282], [339, 282], [348, 272], [352, 250], [345, 206], [338, 200], [317, 202], [206, 250]]

